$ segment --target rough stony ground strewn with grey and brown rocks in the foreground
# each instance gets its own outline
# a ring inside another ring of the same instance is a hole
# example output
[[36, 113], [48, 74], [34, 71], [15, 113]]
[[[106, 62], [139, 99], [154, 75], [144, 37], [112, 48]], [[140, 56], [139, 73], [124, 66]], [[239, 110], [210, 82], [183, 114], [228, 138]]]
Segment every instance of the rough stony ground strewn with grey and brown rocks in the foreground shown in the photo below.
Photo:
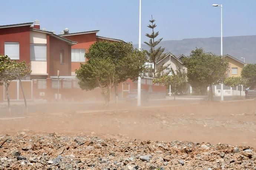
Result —
[[0, 169], [256, 169], [255, 148], [19, 132], [0, 136]]

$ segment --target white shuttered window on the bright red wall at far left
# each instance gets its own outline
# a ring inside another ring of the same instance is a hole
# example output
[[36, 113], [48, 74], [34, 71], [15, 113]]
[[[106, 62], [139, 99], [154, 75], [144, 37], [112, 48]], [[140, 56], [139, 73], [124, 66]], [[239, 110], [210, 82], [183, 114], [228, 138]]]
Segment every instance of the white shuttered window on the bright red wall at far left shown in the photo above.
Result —
[[4, 42], [4, 55], [11, 59], [20, 59], [20, 44], [18, 42]]

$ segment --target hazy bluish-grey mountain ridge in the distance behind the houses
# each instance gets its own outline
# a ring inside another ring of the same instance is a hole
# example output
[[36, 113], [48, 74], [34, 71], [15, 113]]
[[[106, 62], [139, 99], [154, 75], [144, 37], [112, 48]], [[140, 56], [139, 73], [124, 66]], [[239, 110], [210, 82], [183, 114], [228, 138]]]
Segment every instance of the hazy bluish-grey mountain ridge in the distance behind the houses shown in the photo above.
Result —
[[[220, 55], [220, 37], [210, 38], [190, 38], [183, 40], [161, 41], [160, 45], [165, 48], [165, 52], [174, 55], [190, 55], [191, 50], [203, 48], [205, 52]], [[148, 46], [142, 43], [142, 49], [148, 50]], [[138, 44], [134, 47], [138, 48]], [[256, 63], [256, 35], [223, 37], [223, 55], [229, 54], [246, 63]]]

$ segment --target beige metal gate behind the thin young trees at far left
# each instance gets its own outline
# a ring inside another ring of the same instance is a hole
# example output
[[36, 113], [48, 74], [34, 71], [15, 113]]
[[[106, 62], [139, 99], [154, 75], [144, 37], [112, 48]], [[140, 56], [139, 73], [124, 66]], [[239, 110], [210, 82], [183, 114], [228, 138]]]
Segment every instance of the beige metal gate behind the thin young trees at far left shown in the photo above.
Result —
[[[22, 80], [22, 86], [24, 90], [24, 94], [26, 96], [27, 100], [32, 100], [33, 99], [33, 84], [32, 80]], [[21, 101], [23, 100], [23, 94], [22, 94], [22, 89], [20, 88], [20, 82], [18, 80], [13, 80], [11, 81], [9, 87], [9, 96], [10, 100], [12, 101]], [[7, 101], [7, 96], [6, 96], [6, 91], [5, 91], [5, 86], [3, 88], [3, 99], [4, 101]]]

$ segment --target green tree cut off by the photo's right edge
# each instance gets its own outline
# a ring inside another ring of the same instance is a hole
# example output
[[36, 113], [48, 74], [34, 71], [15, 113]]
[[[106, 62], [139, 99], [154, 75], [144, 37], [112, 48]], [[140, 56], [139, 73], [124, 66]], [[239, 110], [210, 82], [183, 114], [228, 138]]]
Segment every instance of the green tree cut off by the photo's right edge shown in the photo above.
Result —
[[256, 64], [247, 64], [241, 72], [241, 76], [246, 80], [246, 86], [256, 84]]

